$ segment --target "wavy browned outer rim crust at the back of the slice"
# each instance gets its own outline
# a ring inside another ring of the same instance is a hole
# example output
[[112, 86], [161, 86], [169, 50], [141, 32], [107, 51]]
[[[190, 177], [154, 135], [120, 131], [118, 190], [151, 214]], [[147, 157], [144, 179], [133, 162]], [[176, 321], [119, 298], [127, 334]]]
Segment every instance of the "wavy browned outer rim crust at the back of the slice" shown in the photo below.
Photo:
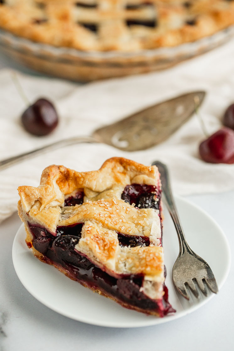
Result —
[[106, 160], [100, 170], [92, 172], [76, 172], [64, 166], [52, 165], [42, 172], [39, 187], [20, 186], [18, 191], [22, 206], [28, 212], [37, 200], [40, 201], [40, 211], [61, 206], [64, 196], [78, 188], [83, 188], [85, 193], [90, 190], [101, 193], [114, 185], [124, 187], [132, 183], [160, 186], [158, 169], [121, 157]]

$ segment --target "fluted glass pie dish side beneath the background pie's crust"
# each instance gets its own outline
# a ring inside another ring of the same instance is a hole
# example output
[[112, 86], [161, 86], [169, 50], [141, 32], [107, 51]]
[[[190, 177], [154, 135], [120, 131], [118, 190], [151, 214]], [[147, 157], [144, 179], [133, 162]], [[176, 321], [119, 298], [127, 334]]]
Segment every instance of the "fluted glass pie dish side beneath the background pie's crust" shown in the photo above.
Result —
[[209, 37], [175, 47], [134, 52], [84, 52], [33, 42], [0, 30], [2, 52], [35, 71], [73, 81], [92, 81], [172, 67], [227, 42], [234, 34], [229, 26]]

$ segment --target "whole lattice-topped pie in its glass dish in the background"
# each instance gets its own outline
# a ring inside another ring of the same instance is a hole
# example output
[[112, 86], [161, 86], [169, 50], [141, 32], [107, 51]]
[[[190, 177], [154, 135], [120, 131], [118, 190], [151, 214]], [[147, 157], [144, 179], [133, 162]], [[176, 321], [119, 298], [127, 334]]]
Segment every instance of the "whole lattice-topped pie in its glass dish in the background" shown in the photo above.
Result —
[[229, 40], [233, 24], [231, 0], [0, 0], [1, 50], [76, 81], [171, 67]]

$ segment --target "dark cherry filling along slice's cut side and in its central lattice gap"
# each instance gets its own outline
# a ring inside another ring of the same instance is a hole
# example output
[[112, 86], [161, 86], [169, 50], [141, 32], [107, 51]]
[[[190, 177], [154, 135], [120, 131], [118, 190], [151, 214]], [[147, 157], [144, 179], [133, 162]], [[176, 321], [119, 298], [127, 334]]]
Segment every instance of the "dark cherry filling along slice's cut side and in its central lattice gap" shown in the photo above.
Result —
[[[157, 311], [161, 317], [174, 312], [168, 303], [167, 288], [161, 300], [153, 300], [141, 291], [143, 276], [120, 274], [118, 278], [95, 266], [88, 258], [75, 249], [81, 237], [82, 223], [67, 227], [58, 227], [56, 236], [38, 226], [30, 225], [33, 235], [32, 245], [44, 255], [47, 263], [61, 266], [68, 275], [91, 288], [99, 289], [108, 296], [113, 296], [120, 303], [136, 306], [147, 311]], [[131, 241], [131, 236], [119, 233], [123, 245], [148, 245], [146, 237]], [[129, 238], [128, 238], [129, 237]], [[126, 241], [125, 241], [126, 240]], [[129, 307], [130, 307], [129, 306]]]

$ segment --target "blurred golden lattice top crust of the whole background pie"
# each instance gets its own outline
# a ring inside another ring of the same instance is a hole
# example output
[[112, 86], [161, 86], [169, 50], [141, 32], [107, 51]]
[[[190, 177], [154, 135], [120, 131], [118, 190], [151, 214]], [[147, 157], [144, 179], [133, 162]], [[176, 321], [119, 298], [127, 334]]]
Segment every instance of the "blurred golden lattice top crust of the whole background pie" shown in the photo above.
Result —
[[[227, 0], [82, 0], [82, 4], [6, 0], [0, 4], [0, 27], [54, 46], [137, 51], [192, 42], [234, 24], [234, 4]], [[155, 21], [155, 26], [133, 21]]]

